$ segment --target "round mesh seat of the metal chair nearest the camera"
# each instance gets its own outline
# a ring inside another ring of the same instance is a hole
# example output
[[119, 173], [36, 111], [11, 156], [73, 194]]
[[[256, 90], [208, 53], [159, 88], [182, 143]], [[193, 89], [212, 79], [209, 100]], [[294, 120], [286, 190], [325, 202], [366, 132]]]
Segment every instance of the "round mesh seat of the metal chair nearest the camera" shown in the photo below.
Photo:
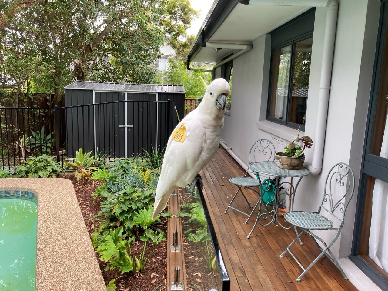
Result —
[[326, 230], [333, 227], [333, 222], [322, 215], [306, 211], [290, 211], [284, 218], [291, 224], [310, 230]]

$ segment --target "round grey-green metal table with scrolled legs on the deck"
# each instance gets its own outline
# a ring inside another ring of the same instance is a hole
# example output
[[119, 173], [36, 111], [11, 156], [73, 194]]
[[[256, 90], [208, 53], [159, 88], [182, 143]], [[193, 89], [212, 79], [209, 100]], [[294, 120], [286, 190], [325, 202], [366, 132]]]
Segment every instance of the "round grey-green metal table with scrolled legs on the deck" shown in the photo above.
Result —
[[[299, 170], [286, 170], [279, 168], [276, 165], [276, 162], [257, 162], [257, 163], [252, 163], [250, 165], [251, 170], [255, 171], [258, 180], [260, 183], [260, 189], [262, 189], [263, 192], [270, 190], [270, 184], [275, 186], [275, 195], [273, 199], [267, 201], [267, 203], [260, 203], [259, 207], [259, 213], [256, 218], [256, 222], [253, 225], [253, 228], [251, 232], [249, 232], [249, 235], [247, 236], [248, 238], [251, 236], [253, 229], [255, 229], [257, 223], [260, 223], [260, 225], [267, 226], [270, 223], [278, 223], [281, 227], [285, 229], [289, 229], [292, 227], [292, 225], [285, 226], [282, 225], [282, 223], [279, 221], [278, 215], [279, 215], [279, 209], [284, 209], [285, 208], [285, 199], [283, 201], [279, 200], [279, 194], [282, 189], [284, 189], [285, 194], [288, 196], [291, 196], [291, 211], [294, 209], [294, 194], [296, 192], [296, 188], [298, 187], [300, 180], [302, 179], [303, 176], [307, 176], [310, 171], [307, 168], [300, 168]], [[272, 181], [270, 183], [266, 183], [265, 186], [263, 186], [263, 181], [262, 177], [260, 175], [266, 175], [268, 178]], [[275, 178], [270, 178], [270, 177], [275, 177]], [[294, 186], [291, 184], [291, 182], [288, 181], [283, 181], [280, 182], [280, 178], [286, 178], [286, 177], [299, 177], [298, 182], [296, 182], [296, 185]], [[263, 188], [264, 187], [264, 188]], [[263, 207], [262, 207], [263, 204]], [[284, 206], [279, 207], [279, 206]], [[263, 210], [264, 209], [264, 210]], [[268, 210], [269, 209], [269, 210]], [[272, 217], [272, 219], [270, 219]], [[296, 231], [296, 229], [295, 229]], [[301, 243], [301, 242], [300, 242]]]

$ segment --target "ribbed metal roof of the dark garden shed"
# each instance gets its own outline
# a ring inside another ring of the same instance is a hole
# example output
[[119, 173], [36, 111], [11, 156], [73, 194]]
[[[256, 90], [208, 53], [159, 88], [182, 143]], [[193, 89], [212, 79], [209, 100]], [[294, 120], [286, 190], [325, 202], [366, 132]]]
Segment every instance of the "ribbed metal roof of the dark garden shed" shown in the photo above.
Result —
[[152, 93], [185, 93], [185, 88], [183, 85], [131, 84], [95, 81], [74, 81], [73, 83], [67, 85], [65, 89]]

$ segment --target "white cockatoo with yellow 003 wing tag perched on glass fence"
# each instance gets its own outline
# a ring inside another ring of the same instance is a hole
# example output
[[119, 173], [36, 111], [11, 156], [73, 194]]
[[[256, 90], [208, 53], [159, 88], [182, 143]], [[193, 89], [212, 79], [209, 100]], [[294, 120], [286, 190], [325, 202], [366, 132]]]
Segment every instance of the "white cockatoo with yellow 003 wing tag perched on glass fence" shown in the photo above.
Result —
[[225, 79], [215, 79], [199, 106], [175, 127], [167, 142], [152, 218], [166, 207], [175, 187], [190, 184], [213, 158], [220, 144], [229, 90]]

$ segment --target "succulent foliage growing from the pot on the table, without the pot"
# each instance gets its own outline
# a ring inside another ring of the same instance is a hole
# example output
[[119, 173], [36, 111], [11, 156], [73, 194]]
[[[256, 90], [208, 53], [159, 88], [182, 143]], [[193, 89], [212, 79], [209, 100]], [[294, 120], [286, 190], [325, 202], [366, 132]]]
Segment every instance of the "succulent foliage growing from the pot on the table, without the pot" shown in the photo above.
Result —
[[[312, 147], [313, 141], [308, 135], [305, 135], [303, 137], [299, 137], [300, 128], [305, 123], [305, 120], [306, 120], [306, 117], [303, 116], [303, 123], [299, 126], [298, 134], [296, 135], [295, 139], [292, 142], [288, 143], [284, 139], [272, 136], [272, 139], [274, 139], [275, 142], [282, 144], [282, 145], [285, 145], [285, 147], [283, 148], [283, 151], [277, 152], [276, 154], [278, 154], [279, 156], [284, 156], [284, 157], [300, 158], [300, 157], [304, 156], [303, 152], [304, 152], [306, 147], [308, 149], [310, 149]], [[297, 142], [297, 143], [301, 142], [303, 144], [303, 148], [300, 145], [295, 144], [295, 142]]]

